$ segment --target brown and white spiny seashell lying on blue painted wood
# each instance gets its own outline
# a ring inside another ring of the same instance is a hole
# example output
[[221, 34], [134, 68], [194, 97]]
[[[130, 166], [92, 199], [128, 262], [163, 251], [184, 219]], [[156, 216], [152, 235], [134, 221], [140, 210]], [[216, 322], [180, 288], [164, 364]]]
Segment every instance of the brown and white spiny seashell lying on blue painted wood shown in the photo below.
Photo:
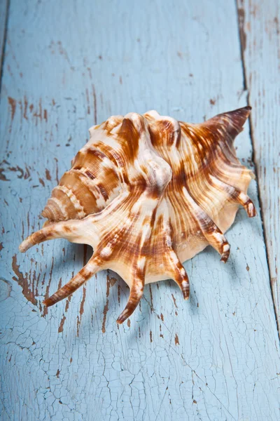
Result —
[[43, 229], [20, 245], [64, 238], [92, 246], [85, 267], [50, 298], [66, 298], [101, 269], [113, 269], [130, 286], [123, 323], [139, 304], [144, 285], [174, 279], [190, 294], [182, 263], [209, 244], [226, 262], [223, 233], [239, 205], [255, 216], [246, 195], [253, 173], [242, 166], [233, 141], [251, 107], [218, 114], [200, 124], [183, 123], [150, 111], [111, 116], [90, 128], [52, 191]]

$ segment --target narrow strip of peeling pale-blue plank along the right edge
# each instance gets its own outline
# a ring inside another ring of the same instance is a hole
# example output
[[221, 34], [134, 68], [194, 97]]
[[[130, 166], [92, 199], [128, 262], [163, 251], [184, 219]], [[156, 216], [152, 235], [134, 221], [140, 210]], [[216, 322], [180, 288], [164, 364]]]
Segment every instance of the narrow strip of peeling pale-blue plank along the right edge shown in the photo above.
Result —
[[239, 0], [238, 5], [246, 85], [253, 106], [254, 162], [258, 172], [270, 282], [280, 329], [280, 280], [277, 274], [280, 261], [279, 1]]

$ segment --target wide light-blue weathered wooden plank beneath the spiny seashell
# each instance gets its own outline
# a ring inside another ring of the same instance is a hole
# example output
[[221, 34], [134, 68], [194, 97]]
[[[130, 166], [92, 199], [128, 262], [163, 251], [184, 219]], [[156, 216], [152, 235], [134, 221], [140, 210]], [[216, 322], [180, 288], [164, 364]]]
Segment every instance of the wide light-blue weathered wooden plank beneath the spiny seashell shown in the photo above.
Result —
[[[8, 40], [1, 419], [278, 420], [279, 342], [260, 216], [240, 210], [227, 265], [208, 248], [186, 262], [190, 302], [162, 281], [119, 327], [128, 288], [113, 272], [48, 312], [41, 305], [83, 265], [83, 246], [57, 240], [18, 253], [95, 121], [151, 108], [202, 121], [246, 105], [235, 1], [12, 0]], [[237, 153], [251, 162], [248, 126]], [[255, 182], [249, 194], [260, 215]]]

